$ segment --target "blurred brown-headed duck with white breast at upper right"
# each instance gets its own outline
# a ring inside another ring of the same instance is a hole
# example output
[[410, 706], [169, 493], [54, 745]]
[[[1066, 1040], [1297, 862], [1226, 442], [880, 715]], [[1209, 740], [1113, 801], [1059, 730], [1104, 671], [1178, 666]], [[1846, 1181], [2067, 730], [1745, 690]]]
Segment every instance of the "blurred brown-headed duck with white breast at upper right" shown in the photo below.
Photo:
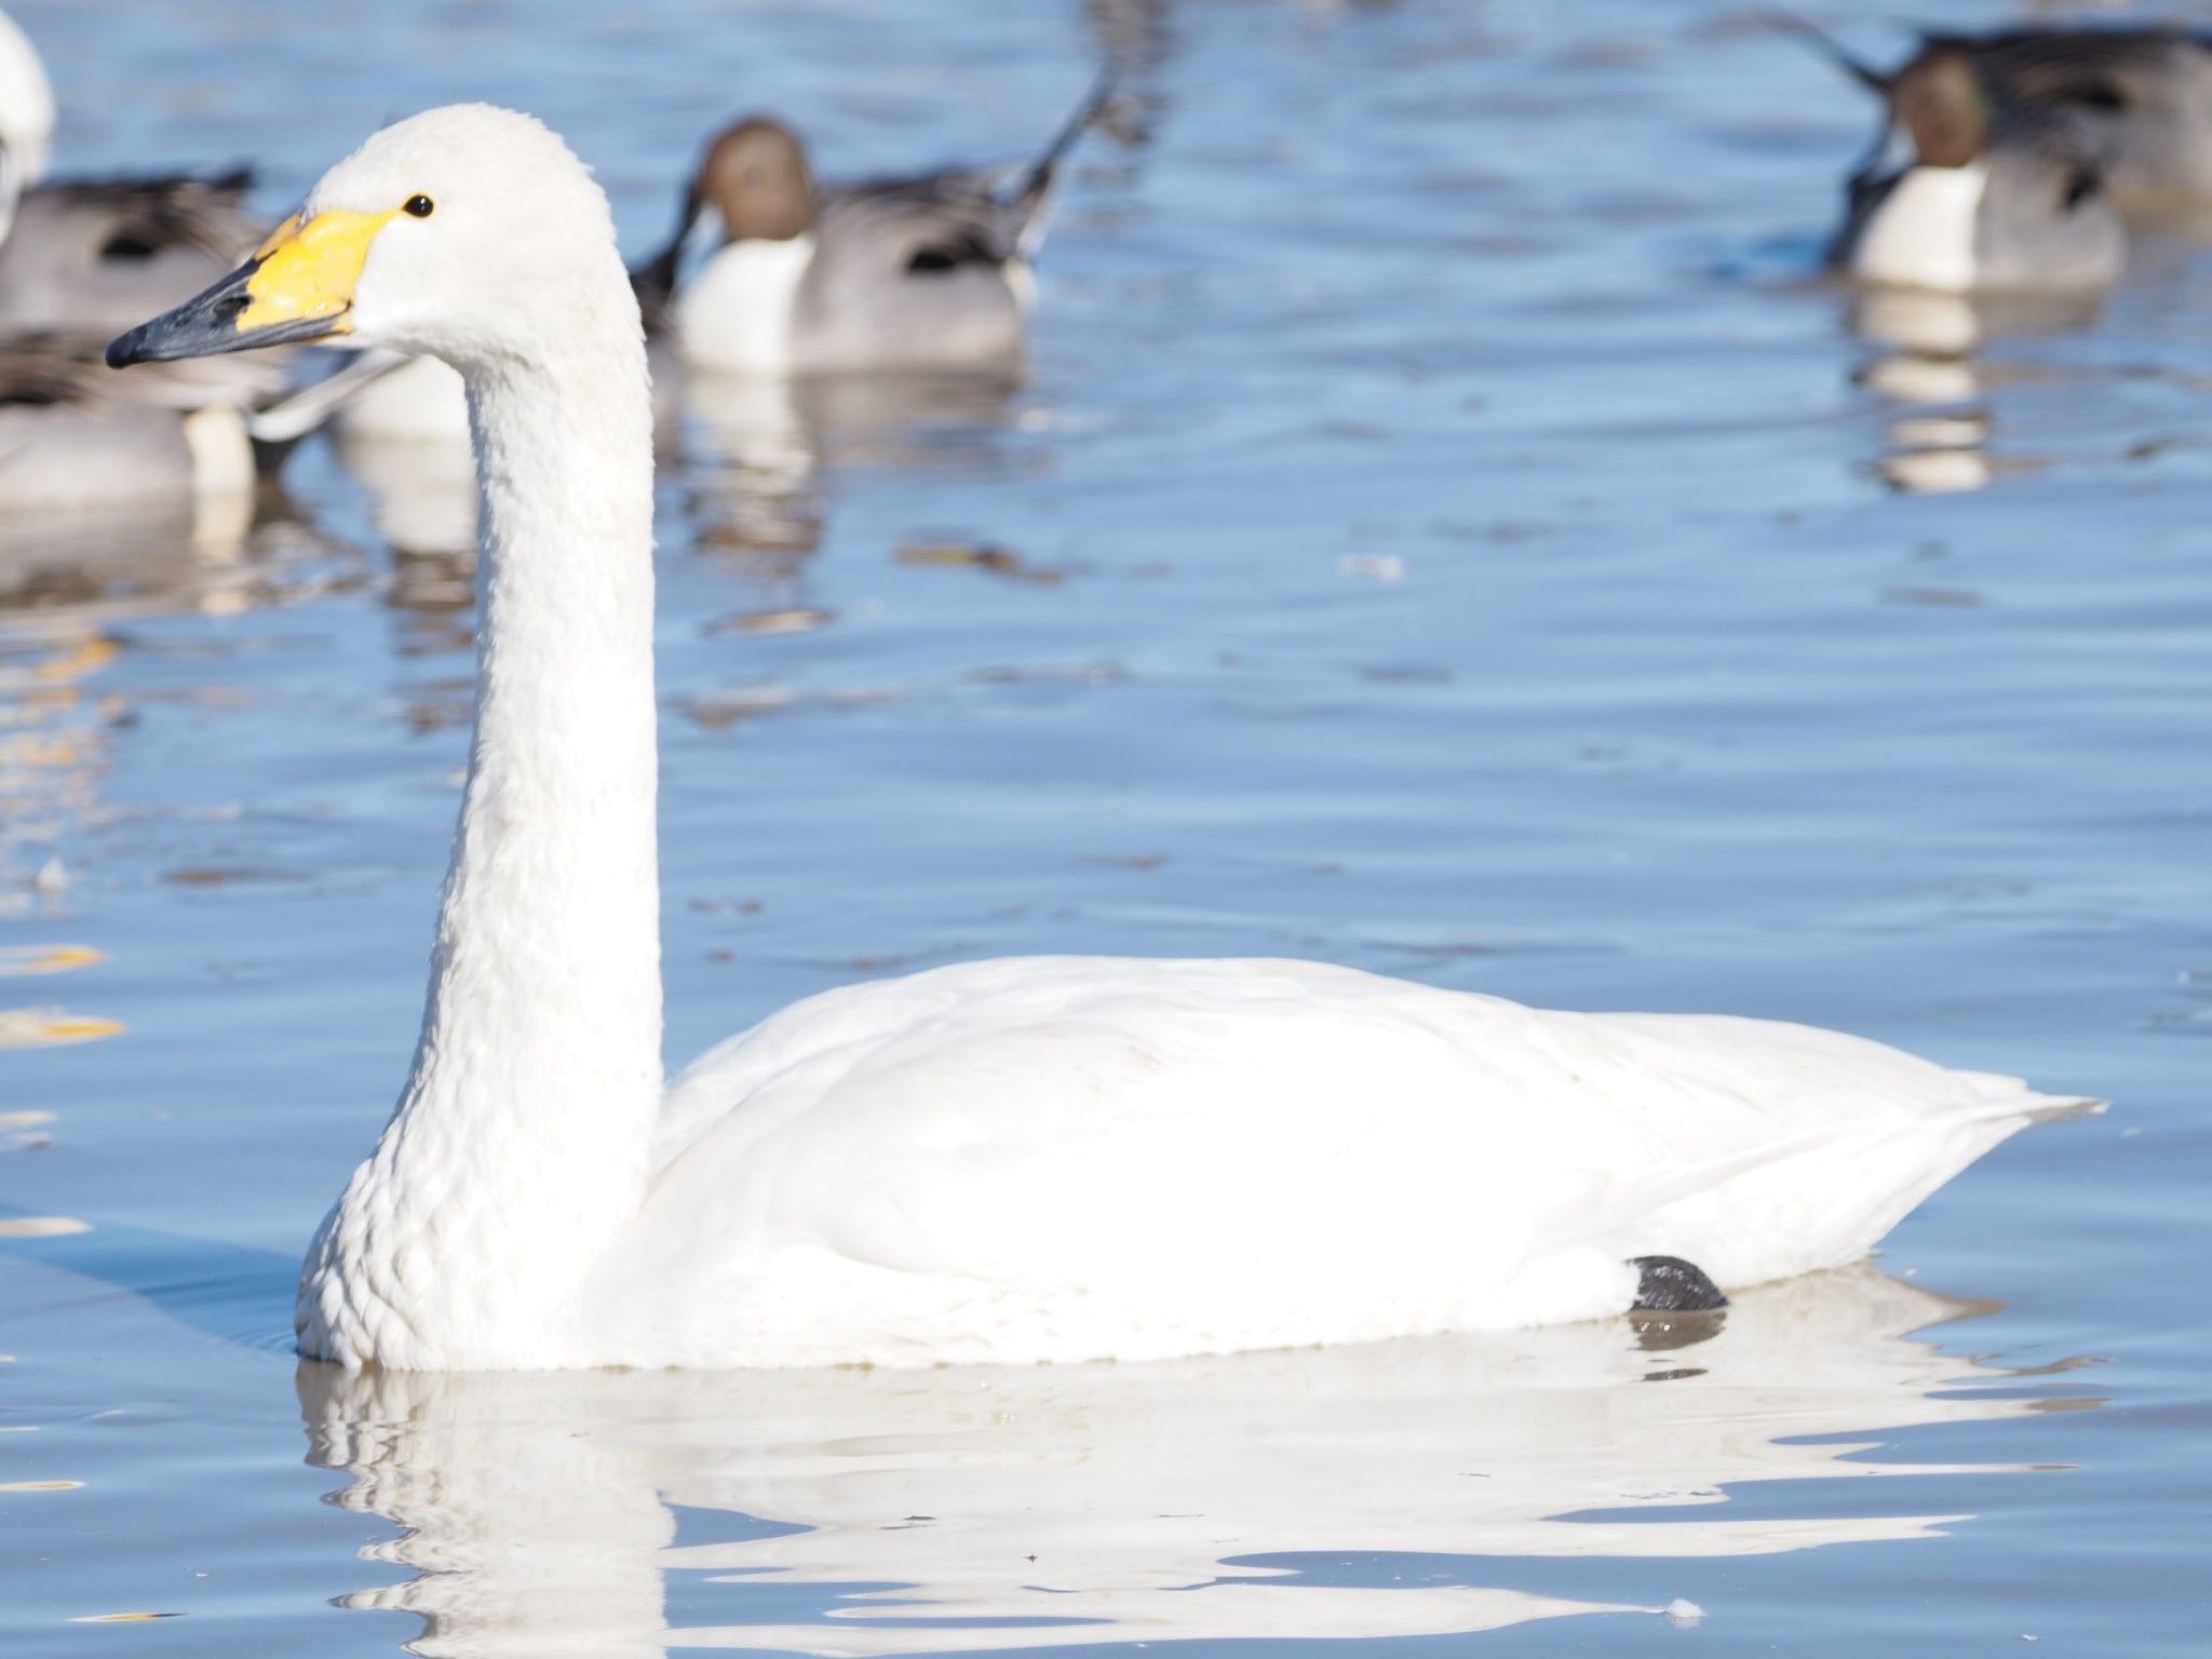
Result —
[[1838, 270], [1947, 294], [2075, 292], [2119, 276], [2128, 243], [2104, 148], [2066, 108], [2015, 97], [1969, 44], [1929, 42], [1880, 75], [1816, 40], [1887, 111], [1845, 188]]

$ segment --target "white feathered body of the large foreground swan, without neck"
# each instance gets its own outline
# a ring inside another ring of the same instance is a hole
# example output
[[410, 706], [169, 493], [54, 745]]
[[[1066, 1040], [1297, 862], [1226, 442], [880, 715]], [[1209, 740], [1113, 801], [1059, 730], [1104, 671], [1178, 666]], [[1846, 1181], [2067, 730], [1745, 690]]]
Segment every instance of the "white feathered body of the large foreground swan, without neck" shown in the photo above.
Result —
[[1068, 1354], [1086, 1321], [1124, 1356], [1130, 1325], [1352, 1340], [1613, 1312], [1628, 1254], [1847, 1261], [2037, 1102], [1803, 1026], [987, 962], [803, 1002], [686, 1073], [637, 1232], [706, 1303], [774, 1281], [942, 1325], [967, 1298], [1066, 1323]]

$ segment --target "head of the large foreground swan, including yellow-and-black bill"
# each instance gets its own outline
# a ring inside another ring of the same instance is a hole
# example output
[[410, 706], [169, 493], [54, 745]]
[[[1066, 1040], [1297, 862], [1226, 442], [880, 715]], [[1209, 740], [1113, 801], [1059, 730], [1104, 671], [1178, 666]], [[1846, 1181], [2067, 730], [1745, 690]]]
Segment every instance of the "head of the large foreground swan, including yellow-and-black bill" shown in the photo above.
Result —
[[591, 173], [529, 115], [453, 104], [376, 133], [252, 259], [108, 363], [336, 341], [469, 372], [611, 323], [635, 332], [637, 310]]

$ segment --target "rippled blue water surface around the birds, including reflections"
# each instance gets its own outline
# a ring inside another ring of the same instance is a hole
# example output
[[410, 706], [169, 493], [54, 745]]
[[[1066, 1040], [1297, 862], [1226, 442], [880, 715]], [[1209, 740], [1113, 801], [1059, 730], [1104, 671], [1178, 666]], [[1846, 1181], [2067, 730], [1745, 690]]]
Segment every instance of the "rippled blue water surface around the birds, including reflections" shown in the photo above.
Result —
[[316, 442], [243, 533], [0, 538], [4, 1652], [2203, 1652], [2192, 250], [2059, 314], [1854, 303], [1814, 268], [1871, 113], [1723, 0], [13, 13], [62, 170], [252, 159], [274, 217], [489, 97], [635, 252], [745, 108], [830, 175], [1018, 157], [1121, 64], [1018, 385], [681, 420], [670, 1060], [971, 956], [1294, 953], [2115, 1110], [1688, 1345], [296, 1367], [471, 675], [465, 493]]

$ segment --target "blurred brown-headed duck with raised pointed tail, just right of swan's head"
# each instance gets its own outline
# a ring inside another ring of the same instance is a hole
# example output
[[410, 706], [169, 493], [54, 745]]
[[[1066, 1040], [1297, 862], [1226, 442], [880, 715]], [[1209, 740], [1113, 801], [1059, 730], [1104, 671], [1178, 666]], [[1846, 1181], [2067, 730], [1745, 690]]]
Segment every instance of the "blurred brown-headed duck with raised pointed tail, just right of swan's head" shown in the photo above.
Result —
[[[648, 327], [703, 369], [958, 369], [1022, 354], [1053, 181], [1113, 93], [1102, 80], [1018, 179], [940, 168], [816, 186], [799, 135], [752, 115], [708, 144], [675, 237], [637, 270]], [[684, 250], [714, 212], [721, 243]]]

